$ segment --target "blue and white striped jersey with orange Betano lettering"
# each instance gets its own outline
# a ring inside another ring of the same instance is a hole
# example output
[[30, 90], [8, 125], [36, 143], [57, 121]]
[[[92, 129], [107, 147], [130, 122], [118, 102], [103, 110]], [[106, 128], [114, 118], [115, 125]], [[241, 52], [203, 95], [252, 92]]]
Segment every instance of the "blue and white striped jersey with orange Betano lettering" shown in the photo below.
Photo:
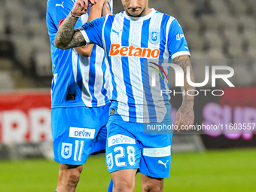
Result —
[[[150, 73], [145, 60], [190, 55], [178, 21], [152, 9], [145, 17], [129, 17], [125, 12], [101, 17], [80, 30], [88, 44], [105, 50], [111, 73], [111, 108], [125, 121], [170, 120], [169, 96], [160, 95], [160, 90], [169, 89], [169, 83], [159, 79], [160, 86], [152, 87], [145, 75]], [[163, 70], [168, 75], [169, 68]]]

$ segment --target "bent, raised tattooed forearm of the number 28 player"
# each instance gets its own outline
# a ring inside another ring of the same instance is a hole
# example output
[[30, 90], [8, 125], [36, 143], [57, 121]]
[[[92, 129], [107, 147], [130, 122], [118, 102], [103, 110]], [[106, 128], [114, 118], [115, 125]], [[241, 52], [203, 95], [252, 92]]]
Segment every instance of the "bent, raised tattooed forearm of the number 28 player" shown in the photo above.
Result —
[[66, 17], [61, 26], [59, 26], [59, 30], [55, 36], [54, 45], [56, 47], [60, 49], [68, 49], [86, 44], [81, 32], [78, 29], [74, 30], [77, 20], [78, 19], [72, 17], [71, 14]]

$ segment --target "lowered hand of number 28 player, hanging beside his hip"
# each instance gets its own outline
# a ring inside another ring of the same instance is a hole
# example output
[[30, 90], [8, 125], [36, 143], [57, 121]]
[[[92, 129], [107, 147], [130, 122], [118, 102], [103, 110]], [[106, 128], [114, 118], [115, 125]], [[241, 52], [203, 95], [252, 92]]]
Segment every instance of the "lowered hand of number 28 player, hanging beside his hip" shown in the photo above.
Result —
[[[175, 126], [178, 127], [177, 132], [182, 130], [190, 130], [191, 126], [194, 124], [194, 110], [193, 106], [189, 104], [182, 104], [180, 108], [178, 108], [176, 118], [175, 118]], [[182, 125], [182, 126], [181, 126]]]

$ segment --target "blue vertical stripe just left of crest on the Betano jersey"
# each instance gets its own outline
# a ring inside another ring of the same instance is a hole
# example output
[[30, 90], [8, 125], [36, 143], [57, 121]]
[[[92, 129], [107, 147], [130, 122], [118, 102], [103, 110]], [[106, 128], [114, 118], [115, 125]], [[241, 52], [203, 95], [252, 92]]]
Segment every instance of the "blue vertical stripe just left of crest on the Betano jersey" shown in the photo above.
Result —
[[[142, 41], [141, 47], [148, 47], [148, 35], [149, 35], [149, 24], [151, 19], [143, 21], [142, 25]], [[143, 82], [143, 89], [145, 91], [145, 105], [148, 105], [148, 117], [150, 117], [150, 121], [152, 117], [157, 117], [157, 113], [154, 108], [154, 101], [151, 93], [151, 86], [150, 80], [148, 75], [148, 59], [141, 58], [141, 68], [142, 68], [142, 82]], [[144, 113], [145, 114], [145, 113]]]

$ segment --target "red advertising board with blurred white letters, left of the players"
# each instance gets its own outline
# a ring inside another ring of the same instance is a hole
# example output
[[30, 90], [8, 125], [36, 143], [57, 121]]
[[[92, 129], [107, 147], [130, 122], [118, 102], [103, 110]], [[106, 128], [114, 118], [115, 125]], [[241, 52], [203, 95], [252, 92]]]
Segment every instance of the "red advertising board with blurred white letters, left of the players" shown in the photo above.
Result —
[[50, 140], [50, 90], [0, 93], [0, 143]]

